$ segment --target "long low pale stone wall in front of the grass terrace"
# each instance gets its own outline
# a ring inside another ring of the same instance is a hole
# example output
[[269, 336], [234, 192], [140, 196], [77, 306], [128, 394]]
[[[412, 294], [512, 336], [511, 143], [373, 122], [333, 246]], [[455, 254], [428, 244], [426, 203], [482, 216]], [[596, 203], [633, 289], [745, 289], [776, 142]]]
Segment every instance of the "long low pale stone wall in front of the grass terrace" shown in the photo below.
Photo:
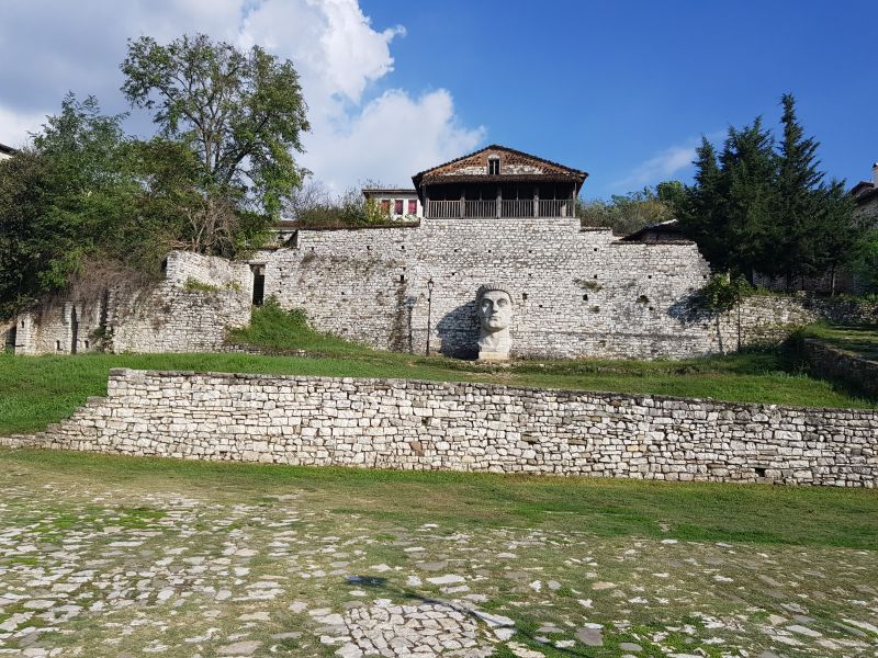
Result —
[[280, 464], [875, 487], [878, 413], [397, 379], [114, 370], [46, 446]]

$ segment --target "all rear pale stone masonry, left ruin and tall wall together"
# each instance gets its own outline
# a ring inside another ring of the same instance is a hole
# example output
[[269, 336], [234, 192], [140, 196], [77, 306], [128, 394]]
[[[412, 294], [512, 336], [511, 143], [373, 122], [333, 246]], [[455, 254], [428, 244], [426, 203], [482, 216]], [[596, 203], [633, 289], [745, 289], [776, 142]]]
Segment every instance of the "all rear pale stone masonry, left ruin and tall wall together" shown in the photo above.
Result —
[[485, 283], [511, 300], [511, 358], [690, 358], [820, 318], [878, 321], [878, 304], [785, 297], [711, 317], [693, 305], [709, 275], [693, 243], [621, 241], [573, 217], [482, 217], [302, 229], [249, 262], [172, 252], [157, 284], [46, 302], [0, 331], [20, 354], [221, 351], [226, 329], [249, 322], [254, 271], [266, 297], [304, 309], [318, 330], [418, 353], [429, 334], [431, 352], [463, 358], [479, 353]]

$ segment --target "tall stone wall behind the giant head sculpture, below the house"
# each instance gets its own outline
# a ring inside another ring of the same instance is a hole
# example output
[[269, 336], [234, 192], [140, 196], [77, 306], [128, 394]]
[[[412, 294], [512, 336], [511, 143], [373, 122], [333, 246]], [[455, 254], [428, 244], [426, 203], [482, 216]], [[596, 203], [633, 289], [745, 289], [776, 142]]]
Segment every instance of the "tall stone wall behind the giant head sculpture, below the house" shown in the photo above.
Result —
[[[266, 295], [320, 330], [380, 349], [476, 353], [475, 292], [504, 285], [513, 355], [687, 358], [778, 340], [820, 317], [801, 300], [748, 299], [719, 318], [695, 313], [708, 263], [686, 242], [622, 242], [575, 218], [425, 219], [418, 227], [300, 230], [264, 251]], [[427, 283], [432, 281], [432, 294]]]

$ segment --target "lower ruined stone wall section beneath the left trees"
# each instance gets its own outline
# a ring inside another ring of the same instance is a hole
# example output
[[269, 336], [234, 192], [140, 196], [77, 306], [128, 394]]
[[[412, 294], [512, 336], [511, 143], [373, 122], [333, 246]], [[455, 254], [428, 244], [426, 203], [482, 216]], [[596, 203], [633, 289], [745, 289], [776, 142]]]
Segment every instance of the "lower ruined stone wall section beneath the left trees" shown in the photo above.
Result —
[[176, 251], [155, 284], [117, 285], [97, 298], [49, 298], [16, 318], [15, 353], [209, 352], [250, 321], [247, 263]]

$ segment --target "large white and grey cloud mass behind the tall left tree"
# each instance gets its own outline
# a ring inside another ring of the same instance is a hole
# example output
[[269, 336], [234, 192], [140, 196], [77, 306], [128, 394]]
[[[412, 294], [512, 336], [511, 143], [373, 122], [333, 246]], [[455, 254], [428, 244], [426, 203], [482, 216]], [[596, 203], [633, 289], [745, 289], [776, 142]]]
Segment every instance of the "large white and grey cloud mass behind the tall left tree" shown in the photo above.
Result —
[[[15, 66], [0, 68], [0, 141], [22, 143], [68, 90], [95, 94], [108, 112], [125, 110], [119, 64], [126, 38], [193, 32], [260, 44], [293, 61], [312, 124], [299, 159], [336, 191], [367, 178], [406, 183], [484, 137], [484, 128], [459, 125], [444, 89], [368, 99], [370, 86], [393, 71], [391, 46], [405, 30], [375, 30], [357, 0], [10, 0], [0, 10], [0, 60]], [[135, 118], [131, 129], [143, 126]]]

